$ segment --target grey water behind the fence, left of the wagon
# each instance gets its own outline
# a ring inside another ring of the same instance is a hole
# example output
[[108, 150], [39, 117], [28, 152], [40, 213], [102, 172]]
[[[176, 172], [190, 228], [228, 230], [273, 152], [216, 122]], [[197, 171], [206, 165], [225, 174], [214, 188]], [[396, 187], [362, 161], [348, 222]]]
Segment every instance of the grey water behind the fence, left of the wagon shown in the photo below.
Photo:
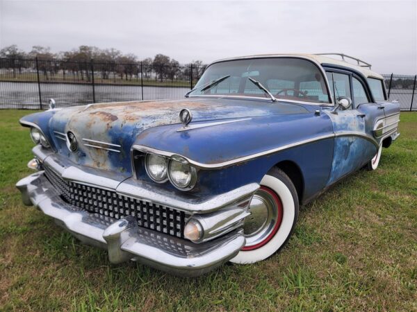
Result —
[[[96, 103], [158, 100], [163, 98], [183, 98], [190, 91], [186, 87], [143, 87], [96, 85]], [[92, 85], [74, 85], [62, 83], [41, 83], [42, 108], [48, 107], [49, 98], [54, 98], [56, 107], [67, 107], [93, 103]], [[0, 82], [0, 108], [39, 109], [37, 83]]]

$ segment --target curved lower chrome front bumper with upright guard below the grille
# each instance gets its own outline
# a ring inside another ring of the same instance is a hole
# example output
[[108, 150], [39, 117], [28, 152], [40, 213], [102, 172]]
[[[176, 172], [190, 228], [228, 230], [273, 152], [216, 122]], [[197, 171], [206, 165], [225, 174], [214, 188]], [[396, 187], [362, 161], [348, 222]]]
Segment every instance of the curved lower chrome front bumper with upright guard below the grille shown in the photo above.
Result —
[[238, 230], [196, 244], [138, 227], [133, 218], [89, 213], [64, 202], [43, 171], [25, 177], [16, 187], [25, 205], [35, 205], [83, 243], [107, 249], [112, 263], [132, 259], [172, 274], [197, 276], [235, 257], [245, 245]]

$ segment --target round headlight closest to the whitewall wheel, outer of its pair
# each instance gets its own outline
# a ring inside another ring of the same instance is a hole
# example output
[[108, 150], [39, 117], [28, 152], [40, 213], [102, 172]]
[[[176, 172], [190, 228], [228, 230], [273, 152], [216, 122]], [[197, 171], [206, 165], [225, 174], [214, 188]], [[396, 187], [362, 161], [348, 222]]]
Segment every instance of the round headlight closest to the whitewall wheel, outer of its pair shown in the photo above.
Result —
[[171, 160], [168, 166], [170, 181], [181, 190], [193, 189], [197, 181], [197, 170], [189, 164]]

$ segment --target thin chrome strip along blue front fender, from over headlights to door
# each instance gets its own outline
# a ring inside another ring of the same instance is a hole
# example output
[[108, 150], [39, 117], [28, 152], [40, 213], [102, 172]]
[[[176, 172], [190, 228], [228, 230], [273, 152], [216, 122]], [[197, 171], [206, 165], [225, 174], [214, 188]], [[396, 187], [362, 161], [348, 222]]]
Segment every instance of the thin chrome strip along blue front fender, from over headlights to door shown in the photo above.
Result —
[[[195, 162], [193, 159], [189, 159], [188, 157], [185, 157], [183, 155], [179, 155], [179, 156], [187, 159], [187, 161], [190, 164], [193, 164], [194, 166], [196, 166], [198, 168], [218, 169], [218, 168], [224, 168], [224, 167], [227, 167], [227, 166], [232, 166], [234, 164], [239, 164], [241, 162], [247, 162], [249, 160], [253, 160], [253, 159], [263, 157], [263, 156], [266, 156], [266, 155], [274, 154], [274, 153], [277, 153], [281, 150], [286, 150], [288, 148], [293, 148], [295, 146], [302, 146], [304, 144], [309, 144], [309, 143], [312, 143], [312, 142], [315, 142], [315, 141], [320, 141], [320, 140], [323, 140], [323, 139], [331, 139], [333, 137], [334, 137], [334, 133], [329, 134], [329, 135], [322, 135], [320, 137], [313, 137], [311, 139], [306, 139], [306, 140], [297, 141], [297, 142], [294, 142], [294, 143], [291, 143], [291, 144], [286, 144], [284, 146], [279, 146], [278, 148], [273, 148], [272, 150], [265, 150], [265, 151], [260, 152], [260, 153], [255, 153], [255, 154], [252, 154], [252, 155], [247, 155], [245, 157], [239, 157], [239, 158], [231, 159], [227, 162], [219, 162], [219, 163], [216, 163], [216, 164], [203, 164], [201, 162]], [[143, 152], [143, 153], [159, 154], [159, 155], [163, 155], [165, 157], [172, 157], [174, 155], [178, 155], [178, 154], [175, 154], [175, 153], [167, 152], [165, 150], [158, 150], [156, 148], [150, 148], [148, 146], [142, 146], [142, 145], [133, 145], [132, 150], [139, 150], [140, 152]]]

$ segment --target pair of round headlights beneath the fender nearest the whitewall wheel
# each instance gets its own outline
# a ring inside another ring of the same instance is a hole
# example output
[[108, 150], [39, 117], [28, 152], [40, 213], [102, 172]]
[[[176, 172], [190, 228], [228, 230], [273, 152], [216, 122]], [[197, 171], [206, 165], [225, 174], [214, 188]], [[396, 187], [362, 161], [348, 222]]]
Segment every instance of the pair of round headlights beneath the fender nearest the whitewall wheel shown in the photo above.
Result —
[[170, 180], [174, 187], [187, 191], [197, 182], [197, 169], [188, 164], [183, 157], [168, 158], [162, 155], [147, 154], [145, 158], [147, 175], [158, 183]]

